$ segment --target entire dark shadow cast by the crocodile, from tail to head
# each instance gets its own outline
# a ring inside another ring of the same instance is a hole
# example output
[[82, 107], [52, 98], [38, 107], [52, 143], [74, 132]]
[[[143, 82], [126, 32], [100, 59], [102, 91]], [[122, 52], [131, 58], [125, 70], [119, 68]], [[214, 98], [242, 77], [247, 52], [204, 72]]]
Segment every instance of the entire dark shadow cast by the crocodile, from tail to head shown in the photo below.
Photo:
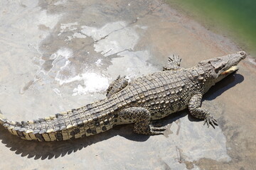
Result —
[[[240, 74], [233, 74], [225, 78], [225, 81], [213, 86], [210, 91], [205, 95], [205, 100], [213, 100], [224, 91], [230, 89], [231, 87], [239, 84], [243, 81], [243, 77]], [[157, 123], [162, 125], [169, 125], [179, 118], [182, 118], [188, 114], [188, 109], [171, 114], [164, 119], [158, 120]], [[202, 121], [193, 118], [188, 114], [188, 119], [191, 121]], [[137, 135], [132, 132], [132, 125], [119, 125], [114, 127], [112, 130], [100, 133], [98, 135], [90, 137], [82, 137], [76, 140], [67, 140], [60, 142], [36, 142], [36, 141], [26, 141], [21, 140], [14, 135], [11, 135], [3, 127], [0, 128], [0, 140], [6, 146], [9, 147], [11, 151], [16, 154], [21, 154], [21, 157], [28, 157], [34, 159], [53, 159], [58, 157], [64, 157], [66, 154], [71, 154], [72, 152], [78, 152], [80, 149], [93, 145], [97, 142], [103, 140], [108, 140], [110, 137], [122, 136], [128, 140], [133, 140], [137, 142], [144, 142], [149, 139], [148, 135]]]

